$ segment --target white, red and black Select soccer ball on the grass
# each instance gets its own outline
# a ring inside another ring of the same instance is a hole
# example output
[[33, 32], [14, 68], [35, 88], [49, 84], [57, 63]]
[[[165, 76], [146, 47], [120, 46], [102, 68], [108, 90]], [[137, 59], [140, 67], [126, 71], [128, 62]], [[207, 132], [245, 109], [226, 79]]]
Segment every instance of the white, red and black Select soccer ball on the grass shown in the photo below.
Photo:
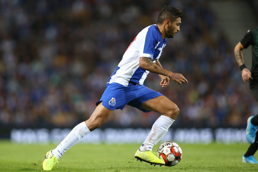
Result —
[[182, 149], [181, 147], [171, 141], [167, 141], [162, 143], [158, 150], [158, 156], [160, 159], [165, 161], [165, 166], [174, 166], [177, 165], [182, 159]]

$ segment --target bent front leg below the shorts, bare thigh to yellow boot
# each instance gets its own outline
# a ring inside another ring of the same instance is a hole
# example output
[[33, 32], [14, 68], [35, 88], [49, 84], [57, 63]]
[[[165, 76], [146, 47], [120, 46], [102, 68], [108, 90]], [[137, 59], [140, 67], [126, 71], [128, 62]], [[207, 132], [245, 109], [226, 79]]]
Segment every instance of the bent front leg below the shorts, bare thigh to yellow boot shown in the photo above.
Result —
[[[175, 118], [179, 114], [179, 108], [175, 103], [169, 100], [164, 95], [150, 99], [142, 103], [142, 109], [159, 112], [162, 114], [153, 124], [150, 133], [144, 140], [142, 146], [136, 151], [134, 157], [138, 160], [146, 161], [150, 164], [164, 165], [165, 162], [160, 161], [161, 159], [155, 158], [154, 154], [150, 154], [153, 146], [159, 142], [159, 140], [167, 133], [171, 124], [175, 121]], [[148, 156], [146, 156], [148, 153]], [[153, 159], [150, 162], [145, 157]]]

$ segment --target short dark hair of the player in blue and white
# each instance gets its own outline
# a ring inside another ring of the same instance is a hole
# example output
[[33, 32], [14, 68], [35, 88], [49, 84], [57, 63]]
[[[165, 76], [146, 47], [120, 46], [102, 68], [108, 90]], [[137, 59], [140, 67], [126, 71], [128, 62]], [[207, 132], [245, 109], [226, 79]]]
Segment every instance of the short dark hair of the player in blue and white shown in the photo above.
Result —
[[162, 24], [166, 19], [169, 19], [171, 22], [173, 22], [178, 17], [183, 17], [182, 11], [180, 9], [171, 5], [165, 5], [158, 15], [158, 24]]

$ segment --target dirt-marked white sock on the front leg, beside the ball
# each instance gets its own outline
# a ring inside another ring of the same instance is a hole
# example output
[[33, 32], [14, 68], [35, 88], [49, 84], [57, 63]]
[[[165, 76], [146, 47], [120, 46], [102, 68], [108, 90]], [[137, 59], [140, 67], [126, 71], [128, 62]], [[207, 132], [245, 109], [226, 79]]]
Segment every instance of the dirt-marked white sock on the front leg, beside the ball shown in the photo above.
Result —
[[152, 150], [153, 146], [159, 142], [159, 140], [167, 133], [171, 124], [175, 120], [161, 115], [153, 124], [150, 133], [146, 137], [146, 140], [140, 146], [140, 151]]

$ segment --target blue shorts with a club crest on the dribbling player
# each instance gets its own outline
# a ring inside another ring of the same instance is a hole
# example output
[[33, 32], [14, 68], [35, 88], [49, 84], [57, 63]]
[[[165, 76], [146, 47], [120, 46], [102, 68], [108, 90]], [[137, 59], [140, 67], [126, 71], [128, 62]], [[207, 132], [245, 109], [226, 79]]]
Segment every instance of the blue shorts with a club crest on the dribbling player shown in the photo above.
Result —
[[107, 85], [100, 101], [96, 102], [96, 105], [102, 102], [102, 105], [109, 110], [122, 110], [125, 105], [130, 105], [142, 112], [150, 112], [149, 110], [142, 109], [142, 103], [161, 95], [161, 93], [144, 85], [125, 87], [119, 83], [110, 83]]

